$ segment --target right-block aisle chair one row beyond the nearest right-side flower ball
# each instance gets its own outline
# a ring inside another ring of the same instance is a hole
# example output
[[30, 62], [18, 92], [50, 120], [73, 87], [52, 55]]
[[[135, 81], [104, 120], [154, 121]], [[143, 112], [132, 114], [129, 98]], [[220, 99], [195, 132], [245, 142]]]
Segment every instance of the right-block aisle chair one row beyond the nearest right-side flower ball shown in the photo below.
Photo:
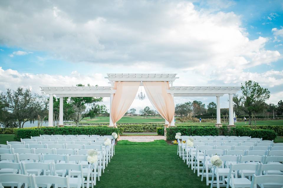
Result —
[[[211, 172], [212, 164], [209, 160], [213, 155], [216, 155], [216, 154], [218, 156], [225, 155], [225, 150], [213, 149], [213, 150], [205, 150], [204, 151], [204, 160], [203, 160], [201, 181], [203, 181], [203, 177], [205, 175], [206, 185], [209, 185], [209, 183], [211, 182], [211, 181], [209, 181], [208, 177], [212, 176], [212, 172]], [[205, 170], [205, 172], [204, 172], [204, 170]]]

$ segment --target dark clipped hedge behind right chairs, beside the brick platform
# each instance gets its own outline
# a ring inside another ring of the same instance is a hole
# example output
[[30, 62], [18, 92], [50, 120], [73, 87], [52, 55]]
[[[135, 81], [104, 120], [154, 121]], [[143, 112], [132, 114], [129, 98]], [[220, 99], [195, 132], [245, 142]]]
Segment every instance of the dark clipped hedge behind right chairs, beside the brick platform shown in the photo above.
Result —
[[181, 132], [182, 135], [192, 135], [192, 136], [218, 136], [219, 129], [217, 127], [170, 127], [167, 128], [166, 140], [175, 140], [175, 135], [177, 132]]

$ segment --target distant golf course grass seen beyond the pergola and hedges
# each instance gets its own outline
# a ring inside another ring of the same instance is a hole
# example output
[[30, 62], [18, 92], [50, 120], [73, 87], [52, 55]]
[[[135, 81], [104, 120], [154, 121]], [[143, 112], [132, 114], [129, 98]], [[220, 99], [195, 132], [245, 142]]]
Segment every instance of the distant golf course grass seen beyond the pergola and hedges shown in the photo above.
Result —
[[[164, 123], [165, 120], [162, 117], [152, 117], [144, 118], [143, 116], [125, 116], [122, 117], [117, 123], [148, 123], [148, 122], [159, 122]], [[179, 121], [176, 121], [179, 122]], [[80, 123], [109, 123], [109, 117], [97, 117], [95, 119], [90, 119], [89, 117], [84, 118]], [[215, 122], [183, 122], [178, 123], [178, 125], [214, 125]], [[224, 122], [222, 122], [224, 124]], [[259, 120], [256, 122], [257, 125], [283, 125], [283, 120]], [[237, 122], [235, 125], [248, 125], [245, 122]]]

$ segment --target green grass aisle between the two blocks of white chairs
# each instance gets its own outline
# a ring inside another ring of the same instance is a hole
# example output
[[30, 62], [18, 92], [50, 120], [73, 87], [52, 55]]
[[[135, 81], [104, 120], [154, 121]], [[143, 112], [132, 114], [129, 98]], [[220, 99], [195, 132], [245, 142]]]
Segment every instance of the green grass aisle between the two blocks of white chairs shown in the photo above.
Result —
[[119, 141], [115, 154], [97, 187], [208, 187], [164, 140]]

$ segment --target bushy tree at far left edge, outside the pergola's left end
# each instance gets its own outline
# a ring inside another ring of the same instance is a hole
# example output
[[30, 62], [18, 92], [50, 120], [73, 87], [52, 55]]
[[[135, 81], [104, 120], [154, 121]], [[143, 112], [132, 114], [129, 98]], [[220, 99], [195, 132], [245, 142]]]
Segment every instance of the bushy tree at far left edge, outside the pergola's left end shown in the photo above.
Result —
[[16, 91], [7, 89], [0, 95], [2, 113], [6, 116], [6, 126], [23, 128], [25, 122], [34, 122], [46, 108], [43, 96], [33, 94], [29, 89], [17, 88]]

